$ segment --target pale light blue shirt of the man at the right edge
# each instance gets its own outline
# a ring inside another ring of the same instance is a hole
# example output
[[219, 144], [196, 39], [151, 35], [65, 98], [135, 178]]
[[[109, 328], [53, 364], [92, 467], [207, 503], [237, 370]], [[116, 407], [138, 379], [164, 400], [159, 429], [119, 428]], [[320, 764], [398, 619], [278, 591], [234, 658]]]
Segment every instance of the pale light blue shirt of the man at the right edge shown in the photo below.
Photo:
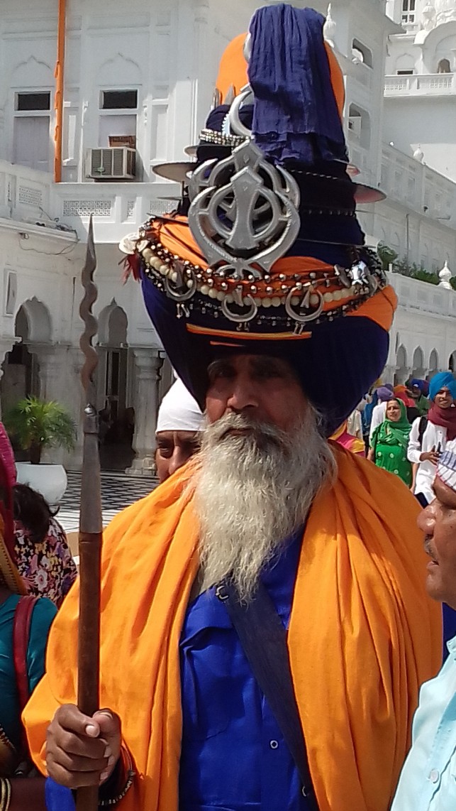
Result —
[[456, 637], [435, 679], [420, 689], [412, 745], [391, 811], [456, 809]]

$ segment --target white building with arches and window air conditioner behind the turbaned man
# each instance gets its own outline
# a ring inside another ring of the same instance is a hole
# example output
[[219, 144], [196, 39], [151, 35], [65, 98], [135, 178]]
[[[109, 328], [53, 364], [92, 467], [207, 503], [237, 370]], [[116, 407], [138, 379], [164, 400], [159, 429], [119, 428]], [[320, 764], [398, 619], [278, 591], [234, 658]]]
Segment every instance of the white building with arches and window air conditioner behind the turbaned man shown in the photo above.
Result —
[[[409, 36], [398, 25], [403, 2], [420, 0], [400, 0], [399, 9], [390, 9], [393, 21], [384, 0], [334, 0], [326, 24], [346, 75], [351, 160], [361, 181], [388, 194], [372, 208], [362, 206], [359, 216], [369, 242], [387, 242], [429, 269], [439, 270], [446, 260], [456, 270], [456, 178], [427, 160], [427, 142], [424, 159], [418, 159], [413, 152], [419, 139], [400, 141], [383, 126], [391, 101], [388, 89], [383, 100], [385, 71], [394, 70], [389, 66], [396, 41]], [[139, 285], [121, 285], [117, 243], [149, 212], [172, 205], [166, 198], [179, 189], [160, 180], [153, 167], [185, 157], [185, 145], [194, 143], [210, 108], [219, 56], [260, 2], [232, 0], [228, 9], [219, 0], [66, 0], [64, 51], [58, 51], [59, 5], [2, 0], [2, 408], [24, 393], [40, 393], [66, 403], [79, 421], [79, 277], [93, 213], [97, 407], [106, 406], [117, 419], [120, 443], [134, 413], [134, 459], [127, 453], [126, 466], [147, 474], [156, 409], [170, 370]], [[326, 13], [326, 0], [315, 5]], [[56, 129], [62, 161], [56, 161]], [[442, 132], [456, 144], [454, 127]], [[412, 367], [448, 367], [456, 350], [456, 294], [398, 277], [394, 285], [401, 304], [387, 375], [402, 379]], [[69, 466], [79, 462], [80, 446], [66, 459]]]

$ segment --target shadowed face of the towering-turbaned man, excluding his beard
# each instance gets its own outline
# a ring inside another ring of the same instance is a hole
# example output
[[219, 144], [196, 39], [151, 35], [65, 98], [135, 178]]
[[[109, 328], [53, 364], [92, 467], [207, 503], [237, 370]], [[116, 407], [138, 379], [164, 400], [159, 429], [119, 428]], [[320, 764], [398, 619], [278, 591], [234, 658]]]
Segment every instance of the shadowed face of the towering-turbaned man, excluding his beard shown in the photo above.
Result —
[[305, 393], [287, 361], [233, 354], [215, 360], [207, 373], [209, 423], [215, 423], [224, 414], [242, 414], [254, 422], [271, 423], [289, 431], [306, 412]]

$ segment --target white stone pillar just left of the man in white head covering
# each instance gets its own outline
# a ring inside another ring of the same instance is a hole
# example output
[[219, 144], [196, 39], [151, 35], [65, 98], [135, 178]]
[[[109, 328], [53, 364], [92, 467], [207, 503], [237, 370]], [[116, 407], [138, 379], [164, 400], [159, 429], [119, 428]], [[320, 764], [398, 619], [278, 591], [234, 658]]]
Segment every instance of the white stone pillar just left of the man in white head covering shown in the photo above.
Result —
[[157, 350], [149, 348], [133, 349], [134, 354], [134, 436], [133, 449], [136, 454], [131, 467], [126, 469], [130, 476], [152, 476], [155, 473], [154, 448], [156, 444], [156, 421], [158, 410], [158, 384], [163, 358]]

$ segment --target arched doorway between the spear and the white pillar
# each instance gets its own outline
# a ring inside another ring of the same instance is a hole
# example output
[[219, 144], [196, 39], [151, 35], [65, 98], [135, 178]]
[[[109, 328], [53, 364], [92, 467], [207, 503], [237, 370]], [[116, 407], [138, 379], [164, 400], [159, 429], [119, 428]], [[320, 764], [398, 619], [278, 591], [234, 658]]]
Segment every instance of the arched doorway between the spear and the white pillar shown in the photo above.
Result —
[[128, 402], [128, 318], [115, 299], [104, 307], [98, 328], [100, 461], [104, 470], [125, 470], [134, 451], [134, 408]]

